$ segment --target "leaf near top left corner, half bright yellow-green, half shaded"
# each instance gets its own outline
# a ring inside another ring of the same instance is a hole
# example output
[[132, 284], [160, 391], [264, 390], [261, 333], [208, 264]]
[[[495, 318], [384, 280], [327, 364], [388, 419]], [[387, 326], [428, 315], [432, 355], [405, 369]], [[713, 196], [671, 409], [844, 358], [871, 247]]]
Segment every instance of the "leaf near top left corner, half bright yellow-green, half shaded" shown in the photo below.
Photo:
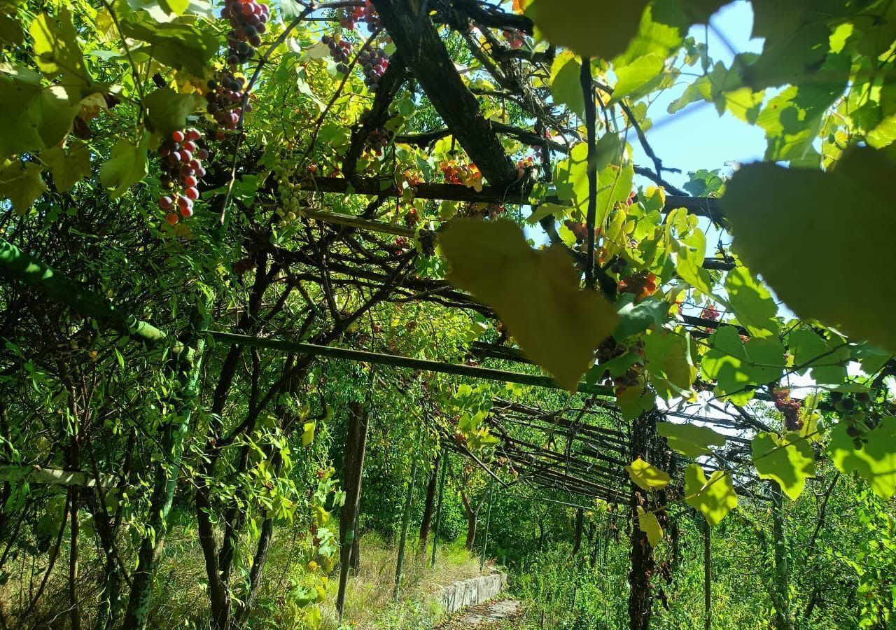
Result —
[[40, 72], [50, 78], [63, 74], [67, 83], [90, 84], [72, 12], [68, 8], [63, 6], [56, 18], [41, 13], [31, 21], [28, 32], [34, 39], [34, 57]]

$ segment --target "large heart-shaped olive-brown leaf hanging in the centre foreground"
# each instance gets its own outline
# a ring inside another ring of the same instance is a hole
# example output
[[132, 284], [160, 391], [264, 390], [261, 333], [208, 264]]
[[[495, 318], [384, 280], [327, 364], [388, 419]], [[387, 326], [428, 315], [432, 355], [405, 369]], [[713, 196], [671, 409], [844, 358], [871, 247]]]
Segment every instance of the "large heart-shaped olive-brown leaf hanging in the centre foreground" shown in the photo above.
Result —
[[599, 293], [580, 289], [568, 255], [532, 249], [508, 220], [454, 220], [439, 241], [448, 280], [494, 308], [526, 356], [574, 390], [617, 316]]

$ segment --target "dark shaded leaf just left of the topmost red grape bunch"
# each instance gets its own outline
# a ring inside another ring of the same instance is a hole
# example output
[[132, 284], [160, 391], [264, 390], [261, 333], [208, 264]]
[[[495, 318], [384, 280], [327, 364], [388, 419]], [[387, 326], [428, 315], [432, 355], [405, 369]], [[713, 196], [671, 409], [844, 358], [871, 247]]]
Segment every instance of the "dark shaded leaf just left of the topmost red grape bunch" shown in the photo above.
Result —
[[122, 22], [122, 30], [127, 37], [150, 44], [148, 52], [154, 59], [196, 76], [205, 74], [220, 47], [214, 34], [181, 22], [162, 24], [128, 19]]

